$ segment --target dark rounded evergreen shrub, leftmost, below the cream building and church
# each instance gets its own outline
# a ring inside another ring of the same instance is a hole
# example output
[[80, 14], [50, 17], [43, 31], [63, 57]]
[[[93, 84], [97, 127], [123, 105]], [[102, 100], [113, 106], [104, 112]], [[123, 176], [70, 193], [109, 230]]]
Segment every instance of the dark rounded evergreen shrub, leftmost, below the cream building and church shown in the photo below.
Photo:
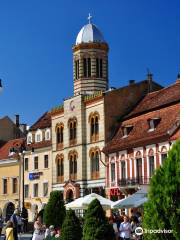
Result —
[[60, 191], [50, 193], [49, 201], [44, 209], [43, 220], [46, 225], [61, 227], [66, 215], [62, 194]]

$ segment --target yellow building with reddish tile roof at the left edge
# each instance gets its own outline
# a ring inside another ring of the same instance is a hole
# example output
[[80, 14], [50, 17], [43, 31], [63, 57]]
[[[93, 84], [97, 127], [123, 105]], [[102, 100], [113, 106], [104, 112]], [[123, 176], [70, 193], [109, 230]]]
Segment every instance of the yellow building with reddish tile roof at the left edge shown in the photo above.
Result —
[[24, 139], [9, 140], [0, 148], [0, 214], [7, 221], [14, 209], [20, 206], [19, 150]]

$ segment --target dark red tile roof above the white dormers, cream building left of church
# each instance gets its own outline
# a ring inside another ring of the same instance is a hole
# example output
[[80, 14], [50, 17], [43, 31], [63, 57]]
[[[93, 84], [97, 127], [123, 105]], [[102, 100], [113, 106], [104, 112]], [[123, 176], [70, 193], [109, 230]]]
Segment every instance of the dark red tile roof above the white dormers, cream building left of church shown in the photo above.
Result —
[[51, 127], [51, 113], [44, 113], [29, 129], [29, 131], [35, 131], [37, 129], [44, 129]]

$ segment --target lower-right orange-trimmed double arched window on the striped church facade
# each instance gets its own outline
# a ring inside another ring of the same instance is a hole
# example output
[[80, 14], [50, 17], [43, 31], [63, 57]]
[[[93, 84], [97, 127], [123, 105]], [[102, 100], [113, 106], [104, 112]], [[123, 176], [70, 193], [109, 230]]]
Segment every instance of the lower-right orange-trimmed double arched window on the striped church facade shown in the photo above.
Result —
[[90, 161], [91, 161], [91, 179], [99, 178], [99, 154], [98, 148], [92, 148], [90, 150]]

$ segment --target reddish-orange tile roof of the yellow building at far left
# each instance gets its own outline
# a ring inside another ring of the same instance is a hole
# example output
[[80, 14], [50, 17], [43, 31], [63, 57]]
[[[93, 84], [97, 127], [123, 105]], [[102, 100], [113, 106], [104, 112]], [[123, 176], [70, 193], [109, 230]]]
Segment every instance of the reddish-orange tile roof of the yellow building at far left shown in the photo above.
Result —
[[20, 148], [21, 145], [24, 144], [24, 139], [19, 138], [19, 139], [13, 139], [5, 143], [1, 148], [0, 148], [0, 160], [2, 159], [8, 159], [10, 158], [9, 156], [9, 151], [11, 148]]

